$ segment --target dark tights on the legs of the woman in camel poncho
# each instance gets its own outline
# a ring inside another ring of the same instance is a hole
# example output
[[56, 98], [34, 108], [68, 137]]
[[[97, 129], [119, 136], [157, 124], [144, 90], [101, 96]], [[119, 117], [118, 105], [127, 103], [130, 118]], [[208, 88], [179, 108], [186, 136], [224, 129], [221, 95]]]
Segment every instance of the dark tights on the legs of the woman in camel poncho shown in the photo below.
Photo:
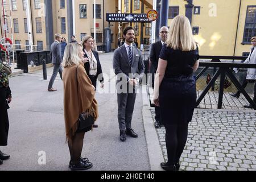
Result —
[[72, 164], [79, 164], [84, 144], [84, 132], [76, 133], [72, 139], [68, 140], [68, 148]]

